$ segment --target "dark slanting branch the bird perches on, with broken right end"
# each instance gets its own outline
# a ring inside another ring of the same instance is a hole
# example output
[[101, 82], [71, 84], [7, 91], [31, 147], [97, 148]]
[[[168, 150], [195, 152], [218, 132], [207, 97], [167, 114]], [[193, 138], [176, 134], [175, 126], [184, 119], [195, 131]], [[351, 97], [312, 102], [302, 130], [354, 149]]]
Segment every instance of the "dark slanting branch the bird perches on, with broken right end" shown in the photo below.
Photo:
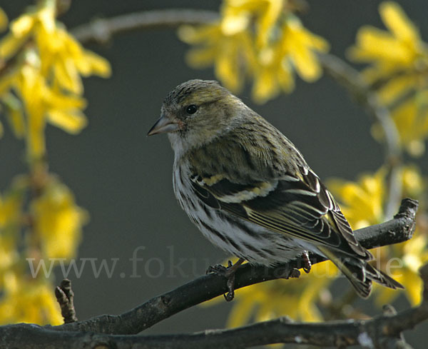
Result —
[[[355, 231], [355, 236], [365, 248], [401, 243], [412, 238], [415, 227], [417, 201], [404, 199], [399, 213], [390, 221]], [[325, 261], [320, 256], [310, 256], [312, 264]], [[275, 268], [241, 265], [235, 274], [235, 289], [266, 280], [284, 278], [304, 262], [297, 258]], [[296, 276], [296, 273], [291, 276]], [[54, 330], [91, 331], [107, 334], [134, 334], [159, 323], [165, 318], [205, 302], [228, 291], [226, 279], [209, 274], [185, 283], [175, 290], [158, 295], [121, 315], [100, 315], [76, 323], [52, 327]], [[1, 328], [0, 328], [1, 338]]]

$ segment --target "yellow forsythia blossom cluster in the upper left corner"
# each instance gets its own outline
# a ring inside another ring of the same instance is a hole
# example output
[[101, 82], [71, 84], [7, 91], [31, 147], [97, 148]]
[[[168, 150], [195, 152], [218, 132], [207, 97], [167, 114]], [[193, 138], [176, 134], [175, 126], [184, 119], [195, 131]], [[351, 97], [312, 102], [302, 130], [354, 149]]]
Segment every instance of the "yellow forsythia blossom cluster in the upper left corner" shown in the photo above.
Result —
[[56, 1], [39, 1], [11, 22], [0, 41], [0, 59], [22, 57], [1, 76], [0, 99], [16, 136], [26, 133], [30, 158], [44, 155], [46, 121], [71, 133], [86, 126], [81, 75], [111, 73], [108, 61], [83, 49], [55, 16]]

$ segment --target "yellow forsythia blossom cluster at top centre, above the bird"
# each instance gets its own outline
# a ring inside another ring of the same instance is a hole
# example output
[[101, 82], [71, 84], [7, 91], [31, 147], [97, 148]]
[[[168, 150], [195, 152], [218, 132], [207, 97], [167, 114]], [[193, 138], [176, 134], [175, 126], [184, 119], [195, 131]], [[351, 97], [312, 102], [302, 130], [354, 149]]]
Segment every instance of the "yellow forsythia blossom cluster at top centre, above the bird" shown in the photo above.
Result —
[[220, 19], [200, 27], [183, 26], [180, 39], [195, 45], [191, 66], [214, 66], [215, 75], [232, 91], [245, 77], [253, 79], [253, 98], [263, 103], [294, 88], [294, 72], [317, 80], [322, 69], [317, 52], [327, 41], [305, 29], [287, 0], [225, 0]]

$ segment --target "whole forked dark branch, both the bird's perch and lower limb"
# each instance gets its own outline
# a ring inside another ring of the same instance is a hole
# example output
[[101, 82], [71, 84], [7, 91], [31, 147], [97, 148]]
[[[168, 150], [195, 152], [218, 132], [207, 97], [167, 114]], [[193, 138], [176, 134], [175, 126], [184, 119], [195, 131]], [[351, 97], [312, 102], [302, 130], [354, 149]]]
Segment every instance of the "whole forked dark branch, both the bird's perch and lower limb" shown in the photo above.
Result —
[[[355, 231], [365, 248], [399, 243], [412, 238], [417, 201], [404, 199], [399, 213], [391, 221]], [[312, 263], [324, 258], [311, 256]], [[236, 272], [235, 288], [290, 275], [302, 261], [294, 260], [277, 268], [242, 265]], [[222, 295], [227, 291], [225, 278], [210, 274], [146, 303], [122, 315], [96, 318], [61, 326], [16, 324], [0, 327], [0, 348], [237, 348], [268, 343], [307, 343], [345, 346], [367, 341], [374, 348], [387, 348], [384, 343], [397, 343], [402, 330], [412, 328], [428, 318], [428, 266], [423, 269], [424, 302], [417, 308], [397, 315], [383, 315], [372, 320], [344, 320], [327, 323], [290, 323], [286, 318], [256, 323], [231, 330], [205, 330], [179, 335], [130, 335], [139, 333], [165, 318]], [[385, 344], [386, 345], [386, 344]]]

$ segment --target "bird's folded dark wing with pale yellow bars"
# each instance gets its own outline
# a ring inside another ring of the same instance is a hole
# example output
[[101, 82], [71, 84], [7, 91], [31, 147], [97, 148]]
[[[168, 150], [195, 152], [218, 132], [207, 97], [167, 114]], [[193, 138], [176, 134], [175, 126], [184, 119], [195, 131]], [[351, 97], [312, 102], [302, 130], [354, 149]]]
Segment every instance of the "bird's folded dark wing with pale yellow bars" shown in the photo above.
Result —
[[[224, 169], [225, 164], [221, 166]], [[335, 199], [310, 168], [300, 168], [298, 176], [282, 174], [258, 181], [234, 180], [220, 172], [198, 173], [193, 168], [190, 181], [195, 194], [208, 206], [315, 245], [360, 258], [371, 256], [357, 242]]]

